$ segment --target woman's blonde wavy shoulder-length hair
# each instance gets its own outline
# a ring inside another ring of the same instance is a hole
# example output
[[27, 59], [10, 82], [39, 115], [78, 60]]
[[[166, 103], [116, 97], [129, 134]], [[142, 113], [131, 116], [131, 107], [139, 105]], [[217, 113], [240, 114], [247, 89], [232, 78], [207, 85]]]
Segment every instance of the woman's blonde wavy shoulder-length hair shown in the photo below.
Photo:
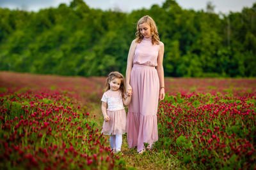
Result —
[[157, 27], [156, 27], [156, 22], [154, 22], [154, 20], [146, 15], [144, 17], [141, 17], [140, 20], [138, 20], [137, 23], [137, 32], [136, 32], [136, 43], [140, 43], [142, 41], [142, 39], [144, 38], [144, 36], [140, 33], [140, 24], [143, 23], [147, 23], [150, 26], [150, 31], [152, 34], [152, 45], [159, 45], [160, 43], [160, 38], [158, 35], [158, 31], [157, 31]]

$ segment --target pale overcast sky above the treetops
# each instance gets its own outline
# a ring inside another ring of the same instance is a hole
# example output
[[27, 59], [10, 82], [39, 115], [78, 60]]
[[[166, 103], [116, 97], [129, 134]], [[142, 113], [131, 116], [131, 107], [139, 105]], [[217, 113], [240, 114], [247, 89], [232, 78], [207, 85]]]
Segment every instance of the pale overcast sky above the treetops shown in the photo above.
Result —
[[[0, 0], [1, 8], [22, 9], [38, 11], [40, 8], [57, 7], [60, 3], [70, 4], [72, 0]], [[165, 0], [84, 0], [90, 8], [108, 10], [119, 8], [130, 12], [141, 8], [150, 8], [152, 4], [161, 6]], [[229, 11], [241, 11], [244, 6], [252, 7], [256, 0], [176, 0], [185, 9], [205, 10], [206, 4], [211, 1], [216, 13], [229, 13]]]

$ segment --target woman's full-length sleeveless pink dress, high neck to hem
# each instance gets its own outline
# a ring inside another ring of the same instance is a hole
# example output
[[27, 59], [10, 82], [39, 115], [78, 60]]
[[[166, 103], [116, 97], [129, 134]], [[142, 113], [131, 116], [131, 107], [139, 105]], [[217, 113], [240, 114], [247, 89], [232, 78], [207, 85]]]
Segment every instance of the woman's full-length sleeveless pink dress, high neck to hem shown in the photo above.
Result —
[[151, 38], [143, 38], [136, 46], [130, 85], [132, 99], [128, 107], [127, 141], [129, 148], [137, 146], [140, 152], [143, 143], [152, 145], [158, 140], [157, 106], [159, 78], [156, 70], [159, 45], [152, 45]]

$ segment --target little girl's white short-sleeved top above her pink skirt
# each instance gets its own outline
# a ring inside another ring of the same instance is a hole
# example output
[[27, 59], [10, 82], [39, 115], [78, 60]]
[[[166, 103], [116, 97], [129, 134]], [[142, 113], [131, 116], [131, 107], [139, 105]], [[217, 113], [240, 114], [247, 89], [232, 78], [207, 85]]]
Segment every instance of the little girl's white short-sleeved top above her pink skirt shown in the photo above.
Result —
[[117, 111], [123, 110], [124, 104], [122, 100], [122, 92], [120, 90], [117, 91], [106, 91], [104, 92], [101, 101], [108, 103], [109, 111]]

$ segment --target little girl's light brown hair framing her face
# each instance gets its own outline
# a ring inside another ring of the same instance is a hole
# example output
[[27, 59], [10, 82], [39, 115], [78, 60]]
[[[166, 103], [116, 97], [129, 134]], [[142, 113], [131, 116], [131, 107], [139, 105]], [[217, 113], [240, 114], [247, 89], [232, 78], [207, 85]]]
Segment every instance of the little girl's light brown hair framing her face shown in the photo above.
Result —
[[115, 78], [120, 78], [121, 79], [121, 84], [119, 89], [122, 92], [122, 97], [124, 98], [125, 96], [125, 83], [124, 83], [124, 76], [119, 73], [118, 71], [114, 71], [108, 74], [108, 78], [106, 80], [106, 85], [105, 85], [105, 91], [108, 91], [110, 89], [109, 82], [114, 80]]

